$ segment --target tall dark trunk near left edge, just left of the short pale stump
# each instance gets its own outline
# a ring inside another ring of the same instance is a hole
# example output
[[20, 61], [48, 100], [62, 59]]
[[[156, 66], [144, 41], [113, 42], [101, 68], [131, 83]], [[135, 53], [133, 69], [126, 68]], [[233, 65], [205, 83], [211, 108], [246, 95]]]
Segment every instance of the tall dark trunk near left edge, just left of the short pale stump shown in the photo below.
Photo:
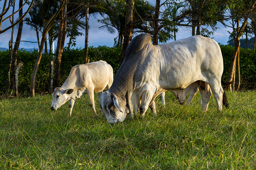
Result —
[[[19, 16], [21, 17], [23, 12], [22, 12], [22, 5], [23, 5], [23, 0], [19, 1]], [[17, 57], [18, 57], [18, 50], [19, 50], [19, 43], [20, 39], [22, 36], [22, 28], [23, 28], [23, 20], [19, 22], [19, 28], [18, 28], [18, 33], [14, 45], [14, 51], [13, 51], [13, 67], [12, 67], [12, 74], [11, 74], [11, 89], [15, 90], [15, 70], [16, 70], [16, 65], [17, 65]]]

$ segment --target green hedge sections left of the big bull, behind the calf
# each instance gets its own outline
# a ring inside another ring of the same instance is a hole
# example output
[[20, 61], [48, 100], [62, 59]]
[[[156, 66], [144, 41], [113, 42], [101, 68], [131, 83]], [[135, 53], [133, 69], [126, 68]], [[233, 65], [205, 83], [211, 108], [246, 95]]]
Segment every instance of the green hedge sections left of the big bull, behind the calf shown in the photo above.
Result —
[[[98, 46], [97, 48], [90, 46], [88, 56], [90, 62], [100, 59], [112, 65], [114, 73], [119, 68], [119, 57], [121, 56], [121, 48], [110, 48], [108, 46]], [[24, 65], [19, 71], [19, 93], [28, 95], [30, 91], [31, 76], [33, 73], [38, 51], [28, 52], [26, 50], [18, 51], [18, 62], [23, 61]], [[49, 87], [49, 61], [51, 56], [43, 55], [38, 73], [36, 74], [35, 92], [44, 93]], [[73, 66], [84, 63], [84, 49], [64, 49], [61, 61], [61, 84], [67, 79]], [[7, 71], [9, 66], [9, 51], [0, 51], [0, 94], [6, 92]]]

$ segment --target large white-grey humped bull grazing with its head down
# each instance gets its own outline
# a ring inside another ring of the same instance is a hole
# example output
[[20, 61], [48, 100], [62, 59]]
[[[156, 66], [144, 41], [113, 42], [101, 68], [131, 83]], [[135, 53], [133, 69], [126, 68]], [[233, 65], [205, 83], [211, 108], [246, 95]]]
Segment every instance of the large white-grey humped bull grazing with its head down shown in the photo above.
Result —
[[[223, 67], [220, 46], [207, 37], [192, 36], [154, 46], [149, 34], [138, 35], [127, 46], [112, 87], [102, 93], [101, 108], [110, 123], [122, 122], [127, 113], [132, 118], [136, 105], [144, 116], [157, 95], [183, 90], [201, 80], [209, 84], [217, 110], [221, 111]], [[207, 111], [210, 95], [207, 90], [201, 92], [204, 111]]]

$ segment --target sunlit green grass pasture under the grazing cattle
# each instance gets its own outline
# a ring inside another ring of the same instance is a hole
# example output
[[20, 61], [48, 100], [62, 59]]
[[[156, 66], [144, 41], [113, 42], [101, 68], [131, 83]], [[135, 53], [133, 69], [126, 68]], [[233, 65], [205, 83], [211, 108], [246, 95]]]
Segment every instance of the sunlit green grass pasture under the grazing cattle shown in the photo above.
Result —
[[[166, 95], [158, 116], [106, 122], [96, 100], [51, 111], [51, 95], [0, 100], [0, 169], [255, 169], [256, 92], [228, 92], [230, 108], [208, 112]], [[96, 98], [97, 99], [97, 98]]]

